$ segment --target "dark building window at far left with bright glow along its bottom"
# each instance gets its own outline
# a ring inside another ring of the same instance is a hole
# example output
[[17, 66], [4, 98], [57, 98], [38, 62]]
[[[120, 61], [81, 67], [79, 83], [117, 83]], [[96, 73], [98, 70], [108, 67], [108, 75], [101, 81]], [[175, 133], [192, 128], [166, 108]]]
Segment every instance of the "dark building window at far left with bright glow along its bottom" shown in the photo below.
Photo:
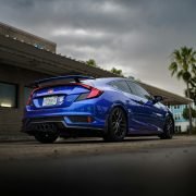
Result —
[[17, 107], [17, 85], [0, 83], [0, 107]]

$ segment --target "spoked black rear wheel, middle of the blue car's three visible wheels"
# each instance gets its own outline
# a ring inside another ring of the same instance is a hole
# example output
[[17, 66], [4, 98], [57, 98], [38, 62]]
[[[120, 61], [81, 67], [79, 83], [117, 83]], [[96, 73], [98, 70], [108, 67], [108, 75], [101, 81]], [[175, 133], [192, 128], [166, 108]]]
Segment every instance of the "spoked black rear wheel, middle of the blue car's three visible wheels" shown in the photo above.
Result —
[[125, 112], [120, 108], [114, 108], [108, 119], [108, 131], [105, 140], [121, 142], [126, 135], [127, 120]]

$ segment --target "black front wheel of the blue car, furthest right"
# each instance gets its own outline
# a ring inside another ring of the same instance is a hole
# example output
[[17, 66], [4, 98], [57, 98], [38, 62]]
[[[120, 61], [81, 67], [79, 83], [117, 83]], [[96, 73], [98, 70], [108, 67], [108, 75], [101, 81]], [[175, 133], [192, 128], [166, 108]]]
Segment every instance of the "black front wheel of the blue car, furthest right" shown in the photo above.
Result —
[[171, 117], [168, 117], [164, 123], [163, 133], [159, 135], [161, 139], [171, 139], [174, 133], [174, 124]]

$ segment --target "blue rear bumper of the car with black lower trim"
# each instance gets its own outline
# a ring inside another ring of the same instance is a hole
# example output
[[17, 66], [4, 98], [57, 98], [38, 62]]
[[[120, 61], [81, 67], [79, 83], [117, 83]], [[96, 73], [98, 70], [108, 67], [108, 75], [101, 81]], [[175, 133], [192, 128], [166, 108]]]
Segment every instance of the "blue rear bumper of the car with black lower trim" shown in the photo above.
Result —
[[54, 123], [61, 132], [68, 130], [103, 132], [109, 107], [110, 105], [102, 98], [76, 101], [70, 107], [36, 109], [27, 106], [22, 131], [30, 134], [35, 132], [37, 124]]

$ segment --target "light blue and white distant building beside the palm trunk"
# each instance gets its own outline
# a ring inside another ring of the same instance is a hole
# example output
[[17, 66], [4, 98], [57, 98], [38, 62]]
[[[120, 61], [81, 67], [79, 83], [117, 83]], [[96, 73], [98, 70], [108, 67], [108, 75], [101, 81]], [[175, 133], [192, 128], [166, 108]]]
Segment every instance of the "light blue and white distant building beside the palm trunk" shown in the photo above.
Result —
[[[183, 111], [187, 107], [188, 107], [187, 105], [175, 105], [169, 107], [171, 112], [173, 113], [176, 133], [187, 132], [189, 127], [189, 121], [183, 118]], [[192, 103], [192, 108], [196, 109], [194, 102]], [[193, 119], [193, 125], [195, 126], [195, 124], [196, 124], [196, 119]]]

